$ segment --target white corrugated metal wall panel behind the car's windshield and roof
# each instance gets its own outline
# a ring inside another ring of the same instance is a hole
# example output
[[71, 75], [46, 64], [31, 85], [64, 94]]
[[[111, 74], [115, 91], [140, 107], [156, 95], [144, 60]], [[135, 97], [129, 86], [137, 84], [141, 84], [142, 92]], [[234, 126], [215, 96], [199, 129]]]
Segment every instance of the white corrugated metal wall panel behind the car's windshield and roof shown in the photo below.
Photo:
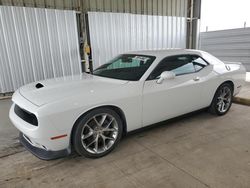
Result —
[[89, 12], [93, 67], [135, 50], [186, 47], [186, 18]]

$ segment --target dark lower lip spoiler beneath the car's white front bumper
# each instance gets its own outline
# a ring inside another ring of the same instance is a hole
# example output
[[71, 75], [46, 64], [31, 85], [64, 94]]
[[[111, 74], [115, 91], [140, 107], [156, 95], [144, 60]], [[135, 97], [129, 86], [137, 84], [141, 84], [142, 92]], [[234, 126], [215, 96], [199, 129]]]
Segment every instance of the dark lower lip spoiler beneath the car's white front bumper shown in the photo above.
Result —
[[59, 151], [47, 151], [45, 149], [35, 147], [22, 132], [19, 134], [19, 141], [28, 151], [42, 160], [58, 159], [61, 157], [66, 157], [71, 153], [69, 148]]

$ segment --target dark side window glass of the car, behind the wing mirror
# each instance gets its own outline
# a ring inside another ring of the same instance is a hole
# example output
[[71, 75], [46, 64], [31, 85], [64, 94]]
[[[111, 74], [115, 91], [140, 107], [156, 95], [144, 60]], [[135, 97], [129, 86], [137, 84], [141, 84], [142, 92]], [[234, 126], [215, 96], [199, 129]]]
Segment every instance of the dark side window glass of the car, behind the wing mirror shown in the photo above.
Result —
[[191, 74], [200, 71], [207, 65], [206, 61], [196, 55], [166, 57], [153, 70], [148, 79], [157, 79], [164, 71], [172, 71], [176, 76]]

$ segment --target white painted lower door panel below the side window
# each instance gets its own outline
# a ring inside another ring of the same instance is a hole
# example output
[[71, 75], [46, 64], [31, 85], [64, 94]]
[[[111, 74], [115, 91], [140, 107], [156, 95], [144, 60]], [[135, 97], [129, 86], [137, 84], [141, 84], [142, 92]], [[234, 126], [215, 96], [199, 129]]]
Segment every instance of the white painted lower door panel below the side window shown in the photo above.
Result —
[[177, 76], [157, 84], [145, 81], [143, 90], [143, 126], [179, 116], [201, 107], [202, 85], [197, 73]]

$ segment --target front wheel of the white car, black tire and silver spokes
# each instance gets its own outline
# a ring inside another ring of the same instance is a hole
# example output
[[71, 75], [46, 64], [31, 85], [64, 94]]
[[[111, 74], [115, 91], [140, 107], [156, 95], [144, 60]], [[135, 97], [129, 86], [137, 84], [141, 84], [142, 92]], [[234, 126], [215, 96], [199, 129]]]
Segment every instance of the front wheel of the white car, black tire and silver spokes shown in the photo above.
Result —
[[112, 109], [98, 108], [82, 116], [73, 130], [73, 145], [79, 155], [99, 158], [110, 153], [122, 136], [122, 121]]

